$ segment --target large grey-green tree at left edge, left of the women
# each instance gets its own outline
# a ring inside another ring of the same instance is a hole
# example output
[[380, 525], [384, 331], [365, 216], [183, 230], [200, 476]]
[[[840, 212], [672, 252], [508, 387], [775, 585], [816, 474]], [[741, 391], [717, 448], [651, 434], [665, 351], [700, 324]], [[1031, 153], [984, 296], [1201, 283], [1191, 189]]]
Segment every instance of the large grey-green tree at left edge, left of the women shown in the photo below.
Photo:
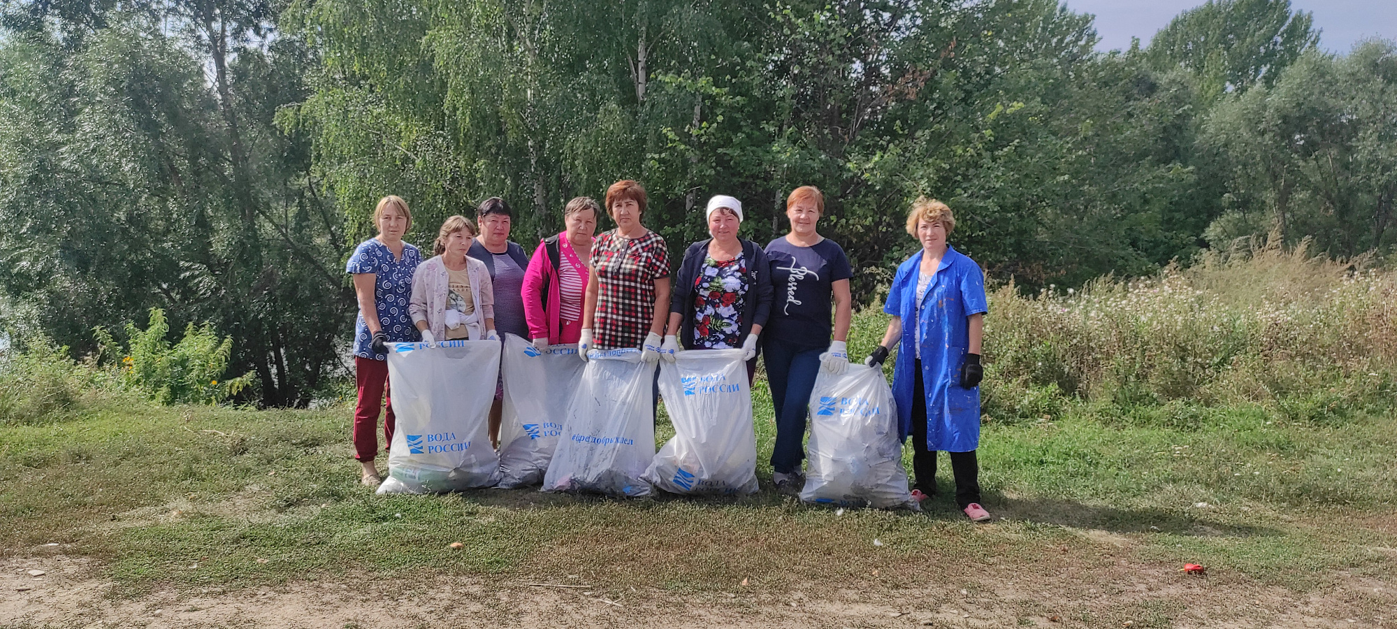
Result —
[[[335, 369], [352, 301], [309, 144], [272, 124], [314, 53], [260, 3], [14, 3], [0, 43], [0, 284], [84, 352], [148, 308], [237, 340], [270, 405]], [[211, 68], [205, 81], [204, 68]]]

